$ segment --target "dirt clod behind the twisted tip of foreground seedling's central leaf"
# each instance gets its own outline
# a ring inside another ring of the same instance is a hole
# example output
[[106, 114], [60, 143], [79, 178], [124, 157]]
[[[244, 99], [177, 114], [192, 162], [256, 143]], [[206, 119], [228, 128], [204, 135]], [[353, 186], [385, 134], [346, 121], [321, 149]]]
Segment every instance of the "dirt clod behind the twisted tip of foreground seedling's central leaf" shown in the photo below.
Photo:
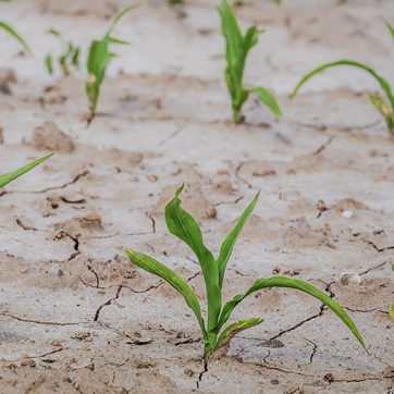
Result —
[[[178, 185], [164, 186], [161, 190], [160, 199], [153, 207], [151, 216], [160, 217], [164, 213], [164, 208], [174, 198]], [[180, 196], [182, 200], [182, 208], [189, 212], [198, 222], [206, 219], [217, 217], [217, 210], [211, 202], [209, 202], [198, 184], [187, 185]]]

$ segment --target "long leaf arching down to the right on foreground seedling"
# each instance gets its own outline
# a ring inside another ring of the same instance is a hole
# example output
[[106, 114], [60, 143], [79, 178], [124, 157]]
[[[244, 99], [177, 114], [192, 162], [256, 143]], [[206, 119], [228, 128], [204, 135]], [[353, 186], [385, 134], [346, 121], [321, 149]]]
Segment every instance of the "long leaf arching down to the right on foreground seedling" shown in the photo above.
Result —
[[273, 276], [270, 279], [259, 279], [257, 280], [254, 285], [245, 293], [245, 294], [238, 294], [236, 295], [233, 300], [226, 303], [223, 307], [222, 313], [220, 316], [218, 325], [212, 331], [213, 333], [219, 333], [220, 329], [223, 327], [223, 324], [227, 321], [230, 318], [231, 312], [233, 309], [248, 295], [268, 287], [291, 287], [299, 290], [304, 293], [307, 293], [315, 298], [320, 299], [324, 305], [327, 305], [333, 312], [336, 313], [336, 316], [349, 328], [349, 330], [353, 332], [353, 334], [357, 337], [359, 343], [362, 345], [362, 347], [368, 353], [366, 345], [364, 344], [362, 337], [360, 333], [357, 330], [356, 324], [353, 322], [353, 320], [348, 317], [348, 315], [340, 307], [338, 304], [336, 304], [332, 298], [330, 298], [328, 295], [325, 295], [323, 292], [320, 292], [315, 286], [310, 285], [309, 283], [296, 280], [296, 279], [288, 279], [284, 276]]

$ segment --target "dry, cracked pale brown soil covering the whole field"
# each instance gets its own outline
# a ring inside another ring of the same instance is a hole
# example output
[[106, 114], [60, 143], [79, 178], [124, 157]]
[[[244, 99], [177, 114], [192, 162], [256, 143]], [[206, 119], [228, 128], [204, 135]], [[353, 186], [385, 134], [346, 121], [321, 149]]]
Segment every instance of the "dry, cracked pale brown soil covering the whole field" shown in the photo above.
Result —
[[[0, 194], [0, 393], [394, 393], [394, 140], [368, 102], [379, 87], [342, 67], [288, 98], [304, 73], [341, 58], [394, 83], [381, 20], [394, 23], [394, 2], [245, 1], [242, 27], [266, 29], [245, 85], [271, 89], [284, 120], [251, 98], [235, 126], [217, 2], [146, 1], [116, 27], [133, 45], [116, 48], [87, 126], [85, 73], [46, 73], [45, 56], [59, 53], [46, 32], [81, 45], [85, 59], [128, 4], [0, 3], [0, 20], [35, 53], [0, 33], [0, 173], [57, 152]], [[163, 218], [183, 182], [184, 205], [216, 255], [261, 190], [229, 264], [225, 299], [258, 278], [308, 281], [343, 305], [370, 355], [319, 301], [269, 290], [232, 317], [266, 321], [202, 373], [190, 309], [124, 254], [131, 247], [175, 269], [205, 306], [195, 257]], [[342, 284], [342, 272], [361, 283]]]

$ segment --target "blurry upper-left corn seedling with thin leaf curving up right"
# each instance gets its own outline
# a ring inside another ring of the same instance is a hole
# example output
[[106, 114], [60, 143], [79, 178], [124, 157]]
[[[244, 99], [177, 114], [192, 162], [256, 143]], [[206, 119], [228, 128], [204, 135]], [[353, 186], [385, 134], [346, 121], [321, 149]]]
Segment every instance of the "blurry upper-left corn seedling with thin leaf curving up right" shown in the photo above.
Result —
[[127, 12], [132, 11], [133, 9], [139, 5], [131, 5], [123, 10], [112, 22], [110, 29], [107, 32], [102, 40], [94, 40], [90, 44], [89, 54], [87, 59], [87, 72], [88, 77], [86, 81], [85, 89], [89, 100], [89, 109], [90, 109], [90, 121], [96, 114], [96, 107], [98, 99], [100, 97], [100, 87], [102, 81], [106, 77], [107, 66], [110, 61], [116, 57], [115, 53], [109, 51], [110, 44], [121, 44], [121, 45], [130, 45], [127, 41], [122, 41], [118, 38], [111, 37], [112, 30]]

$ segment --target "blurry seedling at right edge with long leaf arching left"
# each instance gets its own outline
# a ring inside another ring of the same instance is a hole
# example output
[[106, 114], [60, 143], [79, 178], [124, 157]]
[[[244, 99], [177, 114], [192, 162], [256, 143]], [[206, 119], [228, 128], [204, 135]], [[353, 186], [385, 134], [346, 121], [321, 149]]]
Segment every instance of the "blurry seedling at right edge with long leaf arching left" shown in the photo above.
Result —
[[[392, 25], [390, 25], [387, 22], [385, 22], [393, 39], [394, 39], [394, 28]], [[383, 115], [386, 124], [387, 124], [387, 128], [389, 132], [394, 135], [394, 96], [392, 93], [392, 88], [389, 84], [389, 82], [386, 79], [384, 79], [382, 76], [380, 76], [373, 69], [369, 67], [366, 64], [362, 63], [358, 63], [355, 62], [353, 60], [340, 60], [337, 62], [333, 62], [333, 63], [325, 63], [323, 65], [320, 65], [319, 67], [312, 70], [310, 73], [308, 73], [307, 75], [304, 76], [304, 78], [299, 82], [299, 84], [296, 86], [296, 88], [294, 89], [294, 93], [292, 95], [292, 97], [295, 97], [296, 94], [298, 93], [299, 88], [308, 81], [310, 79], [313, 75], [322, 72], [325, 69], [329, 67], [333, 67], [336, 65], [353, 65], [355, 67], [358, 69], [362, 69], [365, 71], [367, 71], [369, 74], [371, 74], [378, 82], [380, 87], [385, 91], [385, 95], [387, 97], [389, 100], [389, 104], [386, 103], [386, 101], [381, 98], [380, 96], [377, 95], [369, 95], [369, 101], [370, 103], [378, 109], [378, 111]]]

